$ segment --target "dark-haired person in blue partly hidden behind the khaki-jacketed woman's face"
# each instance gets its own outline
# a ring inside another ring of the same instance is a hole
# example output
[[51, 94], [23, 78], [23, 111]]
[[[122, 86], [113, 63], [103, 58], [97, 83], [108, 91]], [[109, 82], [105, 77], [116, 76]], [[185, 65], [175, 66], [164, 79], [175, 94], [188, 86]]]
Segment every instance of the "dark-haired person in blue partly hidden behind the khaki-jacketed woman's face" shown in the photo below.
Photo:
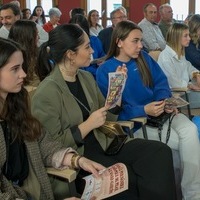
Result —
[[[96, 70], [101, 63], [102, 58], [105, 56], [105, 53], [103, 51], [101, 40], [96, 36], [91, 36], [89, 31], [89, 23], [87, 19], [80, 14], [76, 14], [71, 18], [71, 23], [78, 24], [88, 35], [90, 39], [90, 46], [93, 49], [92, 53], [92, 59], [89, 66], [83, 67], [82, 69], [89, 71], [92, 73], [94, 78], [96, 79]], [[99, 59], [100, 58], [100, 59]]]

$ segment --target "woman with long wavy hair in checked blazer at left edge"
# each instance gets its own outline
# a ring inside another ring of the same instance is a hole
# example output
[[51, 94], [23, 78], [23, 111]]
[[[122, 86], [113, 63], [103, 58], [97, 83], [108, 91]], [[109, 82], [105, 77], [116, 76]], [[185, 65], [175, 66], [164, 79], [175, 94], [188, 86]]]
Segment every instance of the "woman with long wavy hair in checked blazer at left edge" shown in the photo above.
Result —
[[18, 43], [0, 39], [0, 199], [49, 199], [53, 192], [44, 165], [81, 167], [98, 175], [104, 167], [53, 141], [31, 115], [25, 52]]

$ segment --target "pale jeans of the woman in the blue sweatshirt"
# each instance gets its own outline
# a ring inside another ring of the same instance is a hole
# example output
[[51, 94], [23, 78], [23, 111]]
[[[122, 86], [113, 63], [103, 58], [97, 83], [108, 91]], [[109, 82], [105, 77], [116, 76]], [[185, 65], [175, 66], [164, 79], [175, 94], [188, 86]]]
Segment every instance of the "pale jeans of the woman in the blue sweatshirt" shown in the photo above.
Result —
[[[166, 141], [168, 121], [162, 130], [162, 141]], [[158, 129], [147, 126], [148, 139], [158, 140]], [[135, 138], [143, 138], [141, 129], [134, 134]], [[181, 189], [184, 200], [200, 200], [200, 143], [196, 125], [185, 115], [178, 114], [171, 125], [168, 142], [174, 150], [179, 151], [181, 161]]]

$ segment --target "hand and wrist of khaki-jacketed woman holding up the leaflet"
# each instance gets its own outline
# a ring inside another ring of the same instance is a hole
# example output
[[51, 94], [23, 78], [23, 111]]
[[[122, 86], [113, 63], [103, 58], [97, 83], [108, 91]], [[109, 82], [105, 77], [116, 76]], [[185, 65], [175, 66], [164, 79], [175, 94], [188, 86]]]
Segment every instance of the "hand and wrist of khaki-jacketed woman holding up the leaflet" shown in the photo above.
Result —
[[102, 107], [96, 111], [94, 111], [86, 121], [81, 123], [78, 128], [81, 132], [82, 138], [92, 131], [95, 128], [99, 128], [102, 126], [106, 121], [107, 116], [107, 108]]

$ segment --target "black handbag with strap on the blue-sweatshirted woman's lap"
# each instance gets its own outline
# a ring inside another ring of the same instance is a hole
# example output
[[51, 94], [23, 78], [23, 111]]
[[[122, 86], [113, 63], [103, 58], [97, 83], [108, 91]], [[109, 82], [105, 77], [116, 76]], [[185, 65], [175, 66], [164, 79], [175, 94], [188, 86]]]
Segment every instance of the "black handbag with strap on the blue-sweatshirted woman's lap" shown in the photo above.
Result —
[[167, 135], [166, 135], [166, 144], [167, 144], [168, 141], [169, 141], [169, 138], [170, 138], [171, 123], [172, 123], [172, 120], [173, 120], [174, 116], [175, 116], [175, 114], [166, 113], [166, 112], [163, 112], [158, 117], [148, 116], [146, 125], [158, 128], [158, 136], [159, 136], [159, 139], [161, 141], [162, 140], [161, 139], [161, 134], [162, 134], [163, 125], [168, 120], [169, 124], [168, 124]]

